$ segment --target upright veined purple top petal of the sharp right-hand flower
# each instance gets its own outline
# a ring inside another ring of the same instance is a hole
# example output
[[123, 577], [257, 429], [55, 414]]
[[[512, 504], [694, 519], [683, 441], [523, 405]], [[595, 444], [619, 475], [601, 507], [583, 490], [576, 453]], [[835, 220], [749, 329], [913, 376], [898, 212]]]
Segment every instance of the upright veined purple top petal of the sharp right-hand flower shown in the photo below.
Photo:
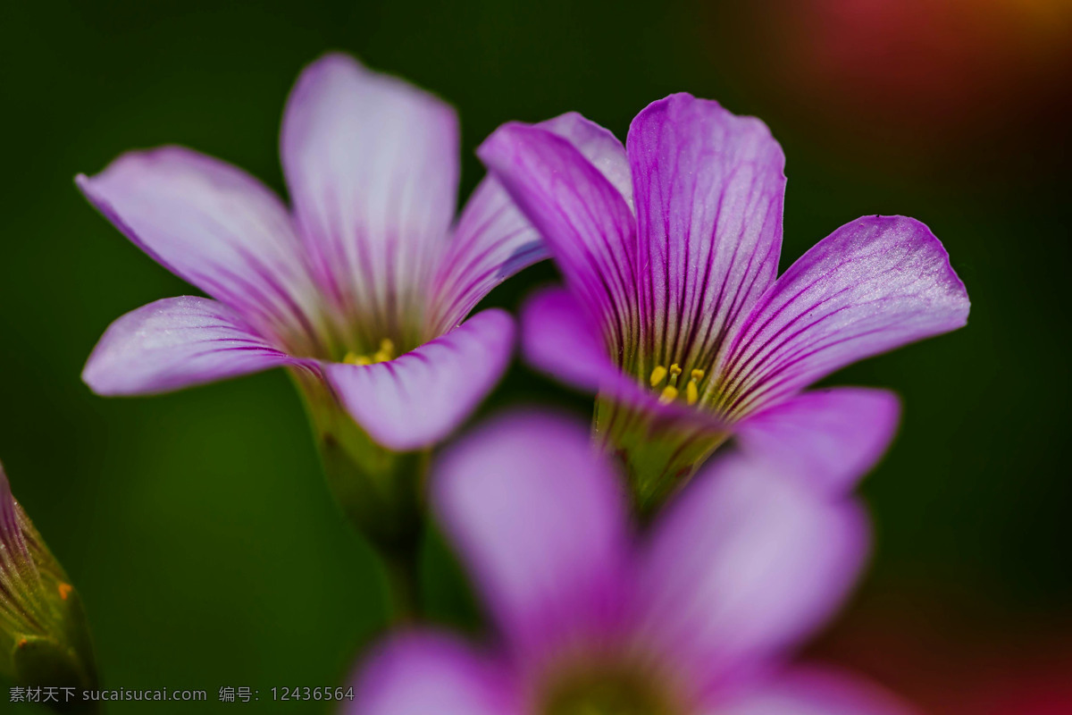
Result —
[[778, 270], [786, 159], [770, 130], [672, 94], [629, 128], [655, 362], [710, 370]]

